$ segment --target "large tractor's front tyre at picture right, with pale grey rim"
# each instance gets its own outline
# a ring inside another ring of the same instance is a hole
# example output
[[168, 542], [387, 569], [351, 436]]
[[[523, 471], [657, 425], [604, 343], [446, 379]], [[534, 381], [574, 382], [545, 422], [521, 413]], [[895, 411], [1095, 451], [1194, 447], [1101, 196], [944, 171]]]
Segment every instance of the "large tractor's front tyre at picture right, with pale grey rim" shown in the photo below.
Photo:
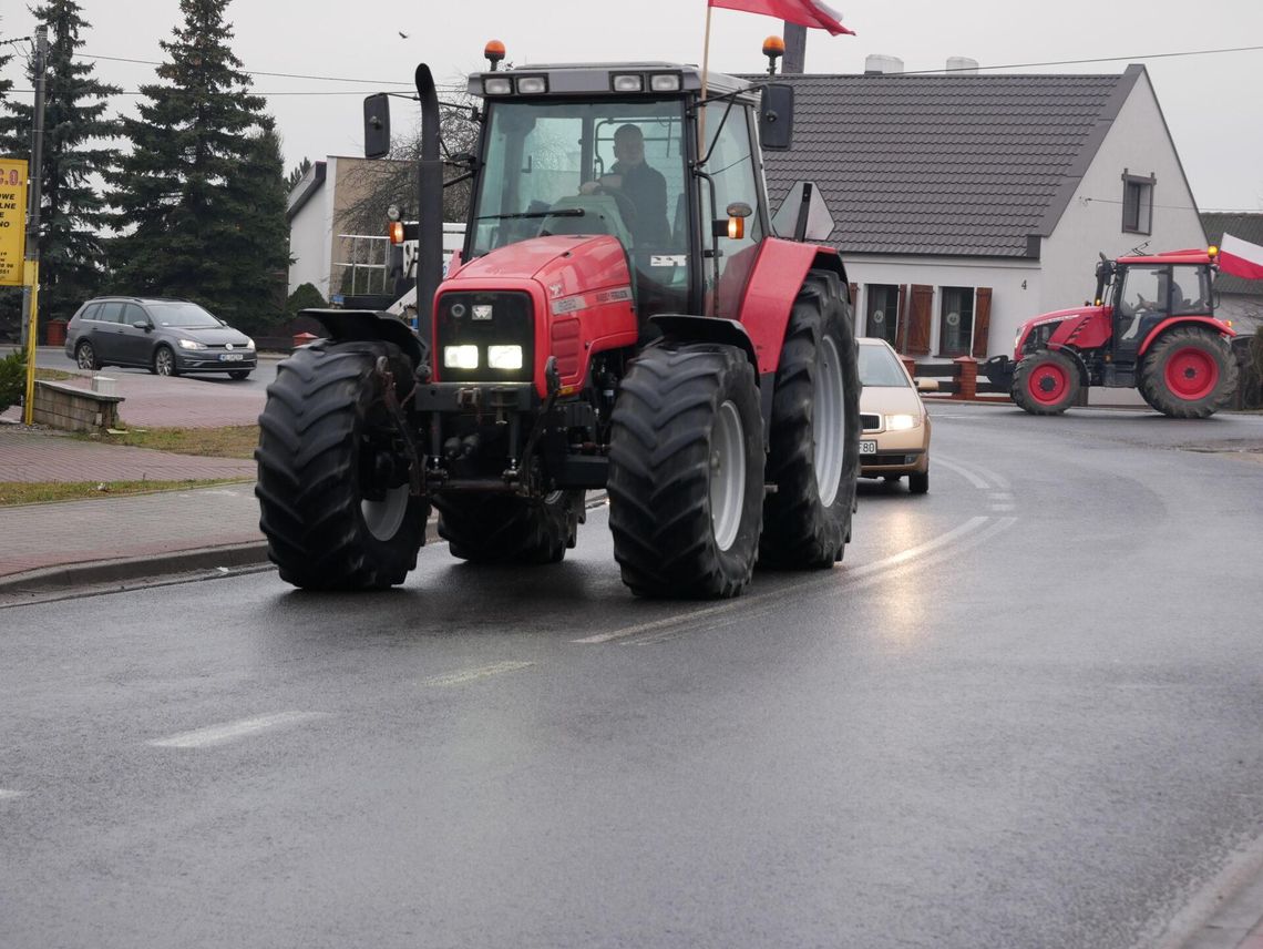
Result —
[[610, 531], [638, 596], [719, 599], [750, 583], [763, 522], [763, 417], [735, 346], [650, 346], [614, 406]]

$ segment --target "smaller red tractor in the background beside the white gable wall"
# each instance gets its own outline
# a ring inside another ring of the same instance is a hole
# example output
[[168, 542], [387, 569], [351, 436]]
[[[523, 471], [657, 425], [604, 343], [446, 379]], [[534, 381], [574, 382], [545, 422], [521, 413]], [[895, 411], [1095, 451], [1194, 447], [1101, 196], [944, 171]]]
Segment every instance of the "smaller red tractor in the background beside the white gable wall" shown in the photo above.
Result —
[[1094, 303], [1028, 320], [1013, 359], [994, 356], [984, 372], [1033, 414], [1065, 412], [1089, 385], [1135, 388], [1175, 418], [1212, 414], [1236, 388], [1233, 329], [1215, 318], [1215, 254], [1101, 254]]

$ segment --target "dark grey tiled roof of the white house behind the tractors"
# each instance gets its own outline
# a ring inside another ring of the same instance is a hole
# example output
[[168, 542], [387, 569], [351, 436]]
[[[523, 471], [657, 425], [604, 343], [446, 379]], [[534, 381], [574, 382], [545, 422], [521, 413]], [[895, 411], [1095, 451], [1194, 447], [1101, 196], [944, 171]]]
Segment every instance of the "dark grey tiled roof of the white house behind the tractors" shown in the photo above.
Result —
[[794, 147], [765, 155], [772, 207], [815, 181], [844, 253], [1027, 257], [1140, 73], [778, 77]]

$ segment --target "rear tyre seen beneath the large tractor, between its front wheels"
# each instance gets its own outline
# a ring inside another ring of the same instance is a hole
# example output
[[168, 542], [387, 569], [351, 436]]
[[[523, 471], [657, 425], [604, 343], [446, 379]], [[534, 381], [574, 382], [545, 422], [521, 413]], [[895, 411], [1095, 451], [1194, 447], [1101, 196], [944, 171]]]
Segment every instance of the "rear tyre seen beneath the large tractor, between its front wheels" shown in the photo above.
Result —
[[575, 546], [584, 492], [541, 500], [506, 494], [437, 495], [438, 536], [453, 557], [474, 564], [560, 564]]

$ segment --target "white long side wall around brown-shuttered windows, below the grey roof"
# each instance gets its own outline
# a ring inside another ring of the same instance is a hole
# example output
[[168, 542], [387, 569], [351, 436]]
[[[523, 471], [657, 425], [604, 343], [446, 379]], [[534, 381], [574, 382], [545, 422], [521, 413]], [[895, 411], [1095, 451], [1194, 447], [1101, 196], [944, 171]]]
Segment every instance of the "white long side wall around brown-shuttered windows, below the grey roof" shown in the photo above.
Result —
[[[938, 356], [943, 287], [990, 287], [991, 322], [986, 354], [1012, 355], [1013, 335], [1038, 306], [1041, 272], [1038, 260], [991, 260], [967, 258], [878, 258], [851, 255], [842, 250], [846, 277], [859, 284], [855, 331], [865, 332], [868, 284], [925, 284], [935, 288], [930, 321], [931, 359]], [[911, 306], [911, 305], [909, 305]]]

